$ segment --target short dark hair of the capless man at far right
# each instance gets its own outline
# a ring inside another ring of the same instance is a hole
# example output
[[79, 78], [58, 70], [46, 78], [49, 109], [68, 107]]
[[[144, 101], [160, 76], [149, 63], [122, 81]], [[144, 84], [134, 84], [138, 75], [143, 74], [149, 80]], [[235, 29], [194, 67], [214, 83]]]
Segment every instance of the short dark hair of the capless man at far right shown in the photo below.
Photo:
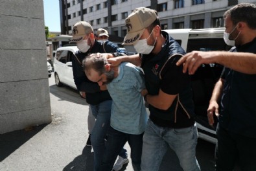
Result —
[[251, 29], [256, 28], [256, 5], [252, 3], [240, 3], [227, 10], [223, 17], [230, 16], [233, 25], [240, 21], [247, 23]]

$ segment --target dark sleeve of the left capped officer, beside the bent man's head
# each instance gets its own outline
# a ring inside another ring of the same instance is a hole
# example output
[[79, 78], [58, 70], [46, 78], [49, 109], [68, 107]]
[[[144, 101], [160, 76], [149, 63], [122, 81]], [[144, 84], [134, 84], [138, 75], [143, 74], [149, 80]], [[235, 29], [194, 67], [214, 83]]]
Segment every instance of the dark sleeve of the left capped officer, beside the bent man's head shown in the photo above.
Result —
[[78, 89], [78, 91], [84, 91], [86, 93], [96, 93], [100, 91], [99, 85], [95, 82], [91, 82], [87, 78], [82, 68], [82, 60], [79, 57], [80, 55], [76, 53], [76, 56], [73, 54], [72, 58], [73, 77], [76, 84], [76, 88]]

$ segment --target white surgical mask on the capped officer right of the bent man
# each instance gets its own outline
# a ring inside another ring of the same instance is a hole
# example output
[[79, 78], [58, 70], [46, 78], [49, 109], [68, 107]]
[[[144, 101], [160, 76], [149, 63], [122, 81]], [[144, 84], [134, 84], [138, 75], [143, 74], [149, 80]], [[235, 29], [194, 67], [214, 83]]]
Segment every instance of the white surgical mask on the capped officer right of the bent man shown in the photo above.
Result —
[[[153, 30], [152, 30], [152, 32], [153, 32]], [[152, 32], [150, 33], [148, 38], [150, 38]], [[156, 41], [154, 42], [154, 45], [148, 45], [148, 43], [146, 43], [146, 40], [148, 40], [148, 38], [143, 39], [143, 40], [139, 40], [134, 45], [135, 51], [137, 51], [138, 53], [141, 53], [141, 54], [150, 54], [150, 52], [152, 52], [154, 47], [155, 47]], [[156, 40], [157, 40], [157, 38], [156, 38]]]

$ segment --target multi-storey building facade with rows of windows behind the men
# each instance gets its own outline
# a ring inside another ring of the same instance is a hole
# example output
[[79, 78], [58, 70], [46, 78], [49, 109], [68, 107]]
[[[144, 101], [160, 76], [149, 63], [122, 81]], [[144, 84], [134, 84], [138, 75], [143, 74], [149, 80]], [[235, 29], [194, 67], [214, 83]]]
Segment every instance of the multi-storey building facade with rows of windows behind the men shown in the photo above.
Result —
[[110, 34], [126, 35], [125, 19], [137, 7], [157, 10], [162, 29], [224, 27], [224, 12], [239, 0], [60, 0], [62, 34], [72, 34], [78, 21], [89, 22], [95, 30], [106, 28]]

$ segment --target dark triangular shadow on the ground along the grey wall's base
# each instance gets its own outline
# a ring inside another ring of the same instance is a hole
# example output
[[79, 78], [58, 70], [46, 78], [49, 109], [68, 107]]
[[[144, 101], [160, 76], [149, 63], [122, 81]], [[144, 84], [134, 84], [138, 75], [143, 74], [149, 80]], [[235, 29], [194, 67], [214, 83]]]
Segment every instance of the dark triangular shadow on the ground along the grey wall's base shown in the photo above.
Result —
[[0, 162], [3, 161], [8, 155], [12, 154], [22, 144], [29, 141], [36, 133], [43, 130], [47, 124], [34, 126], [25, 130], [12, 131], [0, 135]]

